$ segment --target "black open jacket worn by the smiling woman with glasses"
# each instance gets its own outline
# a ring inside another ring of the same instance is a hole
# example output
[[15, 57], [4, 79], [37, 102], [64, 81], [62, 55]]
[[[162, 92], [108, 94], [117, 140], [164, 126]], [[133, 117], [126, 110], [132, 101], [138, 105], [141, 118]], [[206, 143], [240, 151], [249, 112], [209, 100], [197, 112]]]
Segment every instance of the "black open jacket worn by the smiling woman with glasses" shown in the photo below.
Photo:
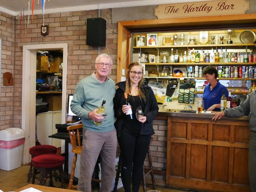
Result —
[[[114, 98], [114, 110], [115, 117], [117, 118], [115, 122], [116, 134], [118, 137], [121, 136], [122, 126], [124, 119], [126, 118], [125, 114], [122, 111], [122, 106], [125, 104], [124, 100], [124, 90], [125, 90], [125, 81], [119, 82], [116, 84], [119, 88], [116, 90], [116, 95]], [[142, 89], [146, 96], [146, 104], [143, 111], [144, 116], [147, 117], [147, 121], [141, 124], [140, 135], [152, 135], [154, 134], [153, 129], [153, 120], [158, 113], [158, 105], [156, 102], [156, 97], [151, 87], [148, 85], [142, 84]]]

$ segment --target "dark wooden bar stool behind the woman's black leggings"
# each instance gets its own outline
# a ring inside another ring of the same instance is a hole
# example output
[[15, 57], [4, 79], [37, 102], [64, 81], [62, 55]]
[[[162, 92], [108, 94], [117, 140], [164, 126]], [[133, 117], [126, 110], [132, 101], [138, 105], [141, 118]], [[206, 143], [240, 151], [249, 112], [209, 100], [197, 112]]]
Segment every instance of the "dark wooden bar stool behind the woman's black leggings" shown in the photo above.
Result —
[[[151, 137], [150, 143], [152, 141], [153, 141], [153, 137]], [[153, 166], [152, 166], [152, 158], [151, 158], [149, 147], [148, 147], [148, 164], [149, 164], [149, 170], [148, 170], [147, 173], [145, 173], [144, 165], [143, 165], [143, 179], [142, 179], [143, 192], [146, 192], [146, 177], [148, 176], [149, 173], [151, 174], [153, 189], [156, 190], [155, 175], [154, 175], [154, 170], [153, 170]], [[115, 186], [114, 186], [113, 192], [116, 192], [116, 189], [117, 189], [118, 180], [120, 178], [121, 167], [122, 167], [122, 154], [120, 153], [118, 168], [117, 168], [117, 171], [116, 171]]]

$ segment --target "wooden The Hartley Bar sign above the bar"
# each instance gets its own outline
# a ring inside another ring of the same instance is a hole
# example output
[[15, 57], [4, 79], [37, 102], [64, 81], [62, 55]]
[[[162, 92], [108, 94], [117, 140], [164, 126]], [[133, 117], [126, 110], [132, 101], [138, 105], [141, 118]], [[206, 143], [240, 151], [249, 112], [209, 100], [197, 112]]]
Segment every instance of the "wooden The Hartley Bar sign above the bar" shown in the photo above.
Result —
[[249, 9], [245, 0], [212, 0], [179, 4], [158, 5], [155, 16], [158, 19], [174, 17], [196, 17], [210, 15], [243, 14]]

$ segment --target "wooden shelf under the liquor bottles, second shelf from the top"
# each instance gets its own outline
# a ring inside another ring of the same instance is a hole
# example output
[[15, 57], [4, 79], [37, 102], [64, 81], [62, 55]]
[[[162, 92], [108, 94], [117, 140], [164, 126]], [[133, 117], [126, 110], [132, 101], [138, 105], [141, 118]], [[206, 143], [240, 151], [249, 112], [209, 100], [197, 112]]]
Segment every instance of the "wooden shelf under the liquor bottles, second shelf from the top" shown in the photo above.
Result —
[[[143, 63], [140, 63], [143, 64]], [[218, 65], [218, 66], [230, 66], [230, 65], [255, 65], [256, 63], [144, 63], [145, 65]]]

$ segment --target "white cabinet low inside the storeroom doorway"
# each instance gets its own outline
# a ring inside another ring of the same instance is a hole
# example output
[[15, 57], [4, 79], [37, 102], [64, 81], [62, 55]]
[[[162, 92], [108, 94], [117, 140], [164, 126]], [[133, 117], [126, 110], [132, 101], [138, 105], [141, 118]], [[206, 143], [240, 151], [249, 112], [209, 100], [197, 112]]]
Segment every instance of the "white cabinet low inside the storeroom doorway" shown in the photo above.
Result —
[[36, 135], [42, 145], [53, 145], [61, 147], [61, 140], [49, 138], [57, 132], [55, 124], [61, 124], [61, 111], [48, 111], [38, 113], [36, 116]]

